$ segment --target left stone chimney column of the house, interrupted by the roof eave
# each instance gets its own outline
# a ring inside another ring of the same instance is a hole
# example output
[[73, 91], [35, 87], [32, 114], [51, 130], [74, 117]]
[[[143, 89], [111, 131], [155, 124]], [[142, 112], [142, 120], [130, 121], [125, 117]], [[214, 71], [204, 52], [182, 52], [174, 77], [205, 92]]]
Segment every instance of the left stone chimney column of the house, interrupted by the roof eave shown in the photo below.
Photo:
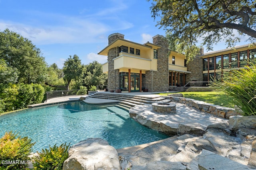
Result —
[[[108, 36], [108, 44], [111, 44], [116, 39], [124, 39], [124, 35], [113, 33]], [[119, 70], [114, 70], [113, 59], [118, 57], [118, 47], [114, 47], [108, 51], [108, 90], [116, 90], [119, 88]]]

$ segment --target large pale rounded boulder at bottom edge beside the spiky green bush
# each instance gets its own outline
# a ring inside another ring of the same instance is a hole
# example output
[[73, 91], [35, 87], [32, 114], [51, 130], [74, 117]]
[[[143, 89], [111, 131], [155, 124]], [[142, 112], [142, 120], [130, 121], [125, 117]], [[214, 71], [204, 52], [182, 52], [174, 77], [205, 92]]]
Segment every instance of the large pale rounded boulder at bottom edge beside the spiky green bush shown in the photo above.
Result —
[[107, 141], [89, 138], [70, 147], [63, 170], [120, 170], [118, 153]]

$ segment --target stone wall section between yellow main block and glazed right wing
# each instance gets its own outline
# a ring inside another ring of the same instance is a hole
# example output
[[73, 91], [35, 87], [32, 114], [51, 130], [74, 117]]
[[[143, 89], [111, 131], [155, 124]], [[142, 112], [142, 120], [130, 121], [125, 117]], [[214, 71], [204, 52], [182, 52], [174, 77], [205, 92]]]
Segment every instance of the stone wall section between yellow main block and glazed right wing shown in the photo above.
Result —
[[[200, 55], [204, 54], [204, 49], [200, 48]], [[186, 82], [203, 81], [203, 59], [196, 56], [193, 61], [187, 64], [187, 70], [191, 73], [186, 75]]]

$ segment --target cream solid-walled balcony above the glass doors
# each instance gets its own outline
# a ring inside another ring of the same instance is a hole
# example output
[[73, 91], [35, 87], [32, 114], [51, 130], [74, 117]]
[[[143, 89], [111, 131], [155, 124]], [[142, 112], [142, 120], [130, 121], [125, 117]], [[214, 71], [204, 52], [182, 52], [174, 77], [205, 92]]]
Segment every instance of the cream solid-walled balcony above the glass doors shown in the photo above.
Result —
[[151, 60], [144, 59], [141, 57], [124, 54], [116, 57], [114, 60], [114, 69], [128, 68], [128, 69], [138, 69], [138, 70], [150, 70]]

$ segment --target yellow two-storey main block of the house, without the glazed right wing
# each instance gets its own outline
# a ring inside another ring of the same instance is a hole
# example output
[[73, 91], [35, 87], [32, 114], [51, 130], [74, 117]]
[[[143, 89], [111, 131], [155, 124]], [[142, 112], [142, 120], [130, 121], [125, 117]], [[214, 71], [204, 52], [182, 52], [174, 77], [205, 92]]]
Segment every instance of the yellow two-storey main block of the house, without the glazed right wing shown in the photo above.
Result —
[[98, 54], [108, 56], [103, 64], [103, 72], [108, 73], [108, 90], [168, 91], [169, 86], [184, 86], [186, 74], [190, 73], [185, 56], [169, 51], [162, 35], [154, 36], [153, 43], [140, 44], [114, 33]]

